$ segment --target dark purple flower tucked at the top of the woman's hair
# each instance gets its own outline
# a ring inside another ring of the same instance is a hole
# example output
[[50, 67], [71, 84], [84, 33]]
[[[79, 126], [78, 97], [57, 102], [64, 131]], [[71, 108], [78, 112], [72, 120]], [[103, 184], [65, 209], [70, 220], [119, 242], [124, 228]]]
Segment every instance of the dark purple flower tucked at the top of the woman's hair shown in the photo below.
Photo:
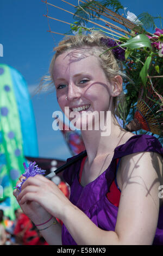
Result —
[[[100, 39], [101, 43], [108, 46], [109, 48], [111, 47], [115, 47], [115, 46], [118, 46], [119, 44], [121, 44], [121, 42], [118, 42], [118, 44], [112, 40], [112, 39], [105, 39], [105, 38], [101, 38]], [[119, 59], [119, 60], [125, 60], [125, 56], [124, 56], [124, 53], [125, 53], [125, 50], [123, 50], [123, 48], [121, 47], [115, 47], [115, 48], [112, 48], [111, 49], [112, 53], [114, 54], [115, 58], [116, 59]]]

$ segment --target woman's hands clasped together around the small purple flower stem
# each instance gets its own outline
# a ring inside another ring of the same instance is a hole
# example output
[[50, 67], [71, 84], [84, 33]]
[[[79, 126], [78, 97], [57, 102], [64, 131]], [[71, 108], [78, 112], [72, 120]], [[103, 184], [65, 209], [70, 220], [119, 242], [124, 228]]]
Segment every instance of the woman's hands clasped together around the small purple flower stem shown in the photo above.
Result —
[[23, 183], [20, 193], [14, 191], [14, 196], [24, 214], [35, 224], [46, 221], [50, 215], [62, 220], [65, 206], [71, 204], [54, 182], [40, 174], [29, 177]]

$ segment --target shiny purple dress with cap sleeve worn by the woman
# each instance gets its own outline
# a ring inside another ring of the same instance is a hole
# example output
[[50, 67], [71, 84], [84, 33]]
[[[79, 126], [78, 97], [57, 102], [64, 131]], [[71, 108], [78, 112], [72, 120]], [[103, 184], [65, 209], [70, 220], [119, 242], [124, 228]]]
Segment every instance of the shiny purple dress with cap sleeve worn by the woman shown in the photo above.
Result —
[[[71, 187], [70, 201], [82, 210], [90, 220], [103, 230], [115, 230], [118, 208], [106, 198], [112, 181], [115, 179], [116, 159], [132, 153], [153, 151], [163, 157], [163, 148], [156, 137], [150, 135], [135, 135], [125, 143], [115, 148], [114, 156], [109, 167], [97, 179], [87, 184], [80, 185], [78, 174], [81, 160], [73, 163], [64, 171], [64, 179]], [[67, 159], [72, 160], [76, 156]], [[158, 191], [159, 192], [159, 191]], [[77, 245], [62, 224], [62, 245]], [[153, 245], [163, 245], [163, 206], [159, 212], [158, 226]]]

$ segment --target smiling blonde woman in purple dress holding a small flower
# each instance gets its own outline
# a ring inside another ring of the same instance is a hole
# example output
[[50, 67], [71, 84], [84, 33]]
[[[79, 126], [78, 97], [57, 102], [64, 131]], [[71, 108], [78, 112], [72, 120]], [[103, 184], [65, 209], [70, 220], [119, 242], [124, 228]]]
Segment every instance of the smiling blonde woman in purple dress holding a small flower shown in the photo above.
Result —
[[[81, 130], [86, 156], [64, 171], [70, 200], [41, 175], [14, 195], [51, 245], [161, 244], [163, 149], [154, 136], [134, 135], [118, 124], [124, 75], [104, 39], [100, 33], [66, 38], [54, 49], [49, 71], [62, 111], [69, 107], [88, 119], [109, 111], [110, 135], [102, 136], [103, 127]], [[52, 216], [63, 222], [62, 230]]]

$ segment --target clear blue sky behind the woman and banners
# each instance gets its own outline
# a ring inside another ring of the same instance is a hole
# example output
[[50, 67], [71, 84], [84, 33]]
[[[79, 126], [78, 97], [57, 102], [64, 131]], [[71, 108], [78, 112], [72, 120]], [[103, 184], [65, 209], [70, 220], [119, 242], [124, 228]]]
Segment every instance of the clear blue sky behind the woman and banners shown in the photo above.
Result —
[[[61, 0], [49, 0], [49, 3], [74, 12], [70, 5]], [[74, 5], [78, 0], [67, 0]], [[148, 12], [158, 16], [163, 9], [162, 0], [122, 0], [127, 10], [139, 15]], [[60, 110], [55, 92], [33, 96], [43, 75], [48, 74], [49, 63], [53, 56], [53, 47], [62, 39], [62, 35], [48, 33], [46, 5], [41, 0], [1, 0], [0, 1], [0, 44], [3, 44], [3, 57], [0, 63], [17, 69], [27, 81], [35, 115], [39, 156], [66, 160], [71, 156], [60, 131], [52, 129], [52, 113]], [[49, 16], [73, 23], [73, 16], [48, 6]], [[160, 27], [159, 21], [156, 25]], [[65, 33], [70, 26], [50, 21], [52, 31]]]

